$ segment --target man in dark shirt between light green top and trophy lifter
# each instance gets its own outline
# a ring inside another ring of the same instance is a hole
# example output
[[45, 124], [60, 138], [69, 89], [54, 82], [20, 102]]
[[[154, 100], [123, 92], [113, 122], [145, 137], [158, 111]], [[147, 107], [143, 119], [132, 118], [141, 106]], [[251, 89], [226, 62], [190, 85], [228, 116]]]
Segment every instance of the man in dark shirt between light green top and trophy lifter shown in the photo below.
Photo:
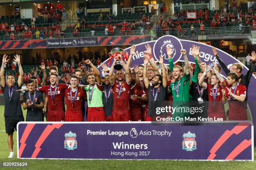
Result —
[[106, 121], [112, 121], [112, 110], [114, 104], [113, 93], [111, 92], [112, 86], [110, 85], [109, 75], [104, 76], [105, 85], [103, 85], [103, 105], [106, 114]]

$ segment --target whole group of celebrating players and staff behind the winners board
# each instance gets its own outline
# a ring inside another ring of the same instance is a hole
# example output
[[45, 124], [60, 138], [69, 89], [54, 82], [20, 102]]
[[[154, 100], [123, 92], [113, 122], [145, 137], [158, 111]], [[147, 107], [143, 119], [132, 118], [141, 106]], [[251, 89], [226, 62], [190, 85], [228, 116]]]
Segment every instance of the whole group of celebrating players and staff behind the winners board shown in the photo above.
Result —
[[[124, 62], [121, 55], [114, 58], [110, 69], [102, 64], [103, 70], [108, 72], [104, 79], [100, 71], [90, 60], [85, 63], [90, 65], [90, 73], [83, 68], [76, 69], [70, 77], [69, 84], [65, 84], [58, 78], [58, 68], [50, 67], [49, 82], [45, 65], [41, 65], [44, 72], [44, 81], [41, 87], [37, 87], [36, 78], [26, 82], [28, 91], [23, 95], [23, 109], [27, 110], [26, 121], [44, 121], [44, 112], [47, 113], [47, 121], [151, 121], [156, 114], [151, 110], [153, 101], [173, 101], [173, 105], [179, 102], [197, 101], [205, 105], [204, 117], [215, 117], [226, 120], [248, 120], [246, 105], [248, 84], [255, 69], [256, 53], [251, 55], [251, 65], [248, 73], [243, 75], [243, 66], [239, 63], [232, 65], [231, 72], [218, 56], [213, 48], [213, 53], [220, 66], [216, 63], [206, 65], [200, 60], [200, 49], [193, 45], [191, 53], [195, 58], [195, 71], [193, 72], [187, 58], [187, 51], [180, 52], [184, 58], [184, 66], [174, 66], [172, 60], [173, 50], [166, 47], [169, 57], [169, 67], [164, 66], [163, 57], [159, 56], [158, 69], [151, 53], [151, 46], [146, 45], [144, 52], [144, 65], [134, 65], [131, 69], [132, 56], [136, 54], [135, 46], [131, 47], [130, 56]], [[120, 58], [123, 70], [115, 70], [115, 61]], [[5, 98], [5, 130], [8, 133], [9, 158], [13, 158], [13, 132], [20, 121], [24, 121], [20, 106], [20, 89], [23, 80], [23, 70], [20, 64], [20, 56], [14, 59], [19, 68], [18, 82], [14, 75], [8, 75], [5, 80], [4, 65], [8, 62], [8, 56], [3, 56], [0, 70], [1, 86]], [[221, 68], [228, 75], [224, 80]], [[161, 71], [160, 71], [161, 70]], [[170, 72], [170, 74], [169, 74]], [[169, 76], [171, 75], [171, 76]], [[86, 76], [87, 82], [82, 81]], [[45, 97], [43, 95], [45, 94]], [[192, 96], [192, 97], [190, 97]], [[65, 109], [64, 99], [67, 109]], [[224, 105], [229, 102], [229, 111], [226, 115]], [[85, 103], [87, 102], [87, 110]], [[237, 104], [238, 103], [238, 104]], [[183, 106], [184, 107], [184, 106]], [[47, 109], [46, 109], [47, 108]], [[174, 112], [172, 117], [189, 117], [189, 112]], [[195, 116], [195, 115], [194, 115]]]

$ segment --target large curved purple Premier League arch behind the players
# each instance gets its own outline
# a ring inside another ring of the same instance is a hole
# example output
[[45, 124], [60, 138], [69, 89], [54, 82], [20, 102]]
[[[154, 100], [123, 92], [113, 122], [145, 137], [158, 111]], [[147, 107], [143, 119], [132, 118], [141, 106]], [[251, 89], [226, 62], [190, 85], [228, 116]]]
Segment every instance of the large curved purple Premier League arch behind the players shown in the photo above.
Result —
[[[172, 59], [174, 63], [178, 61], [184, 61], [183, 57], [181, 56], [180, 49], [183, 48], [187, 50], [187, 57], [189, 59], [189, 62], [195, 63], [194, 57], [192, 54], [189, 53], [189, 49], [192, 47], [192, 45], [197, 45], [200, 47], [200, 58], [202, 62], [206, 62], [207, 65], [209, 65], [212, 62], [218, 63], [218, 60], [216, 60], [216, 57], [214, 56], [212, 52], [212, 46], [202, 44], [200, 42], [190, 41], [190, 40], [179, 40], [177, 37], [174, 37], [172, 35], [165, 35], [163, 37], [160, 37], [158, 40], [154, 41], [148, 41], [143, 42], [141, 44], [137, 44], [136, 51], [138, 51], [137, 54], [133, 55], [132, 61], [131, 61], [131, 67], [134, 65], [143, 65], [143, 51], [146, 51], [145, 45], [149, 44], [151, 45], [152, 54], [154, 56], [154, 59], [156, 61], [159, 60], [159, 55], [163, 55], [164, 57], [164, 63], [166, 65], [169, 65], [168, 63], [168, 56], [166, 52], [166, 46], [169, 46], [174, 49], [174, 54], [172, 55]], [[129, 53], [130, 48], [126, 48], [125, 50]], [[242, 62], [234, 58], [232, 55], [217, 49], [218, 55], [220, 56], [221, 60], [227, 65], [228, 68], [231, 68], [233, 63], [239, 62], [241, 65], [243, 65]], [[108, 60], [106, 60], [104, 63], [107, 64]], [[113, 60], [111, 61], [112, 64]], [[248, 68], [243, 65], [243, 75], [246, 75], [248, 71]], [[224, 77], [227, 77], [224, 71], [221, 72], [221, 74]], [[255, 93], [255, 87], [256, 87], [256, 77], [253, 75], [250, 80], [250, 84], [248, 86], [248, 101], [256, 101], [256, 93]], [[250, 110], [256, 110], [256, 105], [250, 105]], [[252, 112], [252, 118], [253, 123], [256, 123], [256, 115]]]

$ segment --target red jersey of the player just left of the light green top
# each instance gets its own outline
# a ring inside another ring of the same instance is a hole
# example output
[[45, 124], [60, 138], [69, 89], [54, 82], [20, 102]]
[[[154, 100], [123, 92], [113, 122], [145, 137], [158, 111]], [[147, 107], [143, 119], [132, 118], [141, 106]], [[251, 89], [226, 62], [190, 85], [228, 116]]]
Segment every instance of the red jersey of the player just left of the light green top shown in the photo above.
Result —
[[70, 89], [71, 88], [65, 90], [67, 104], [66, 116], [82, 117], [82, 98], [87, 97], [86, 92], [82, 88], [78, 87], [77, 97], [74, 99], [76, 92], [72, 91], [72, 100], [74, 102], [74, 105], [72, 106]]

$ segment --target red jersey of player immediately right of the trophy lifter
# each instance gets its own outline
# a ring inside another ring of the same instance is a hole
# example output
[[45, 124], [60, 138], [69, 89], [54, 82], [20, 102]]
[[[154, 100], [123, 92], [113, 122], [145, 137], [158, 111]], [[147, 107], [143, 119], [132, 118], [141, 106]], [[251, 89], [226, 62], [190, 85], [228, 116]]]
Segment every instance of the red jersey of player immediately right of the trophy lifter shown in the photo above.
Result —
[[[135, 84], [133, 87], [131, 87], [131, 95], [143, 97], [144, 95], [146, 95], [146, 93], [144, 90], [141, 90], [141, 87]], [[141, 103], [141, 100], [132, 100], [130, 97], [131, 114], [141, 111]]]

